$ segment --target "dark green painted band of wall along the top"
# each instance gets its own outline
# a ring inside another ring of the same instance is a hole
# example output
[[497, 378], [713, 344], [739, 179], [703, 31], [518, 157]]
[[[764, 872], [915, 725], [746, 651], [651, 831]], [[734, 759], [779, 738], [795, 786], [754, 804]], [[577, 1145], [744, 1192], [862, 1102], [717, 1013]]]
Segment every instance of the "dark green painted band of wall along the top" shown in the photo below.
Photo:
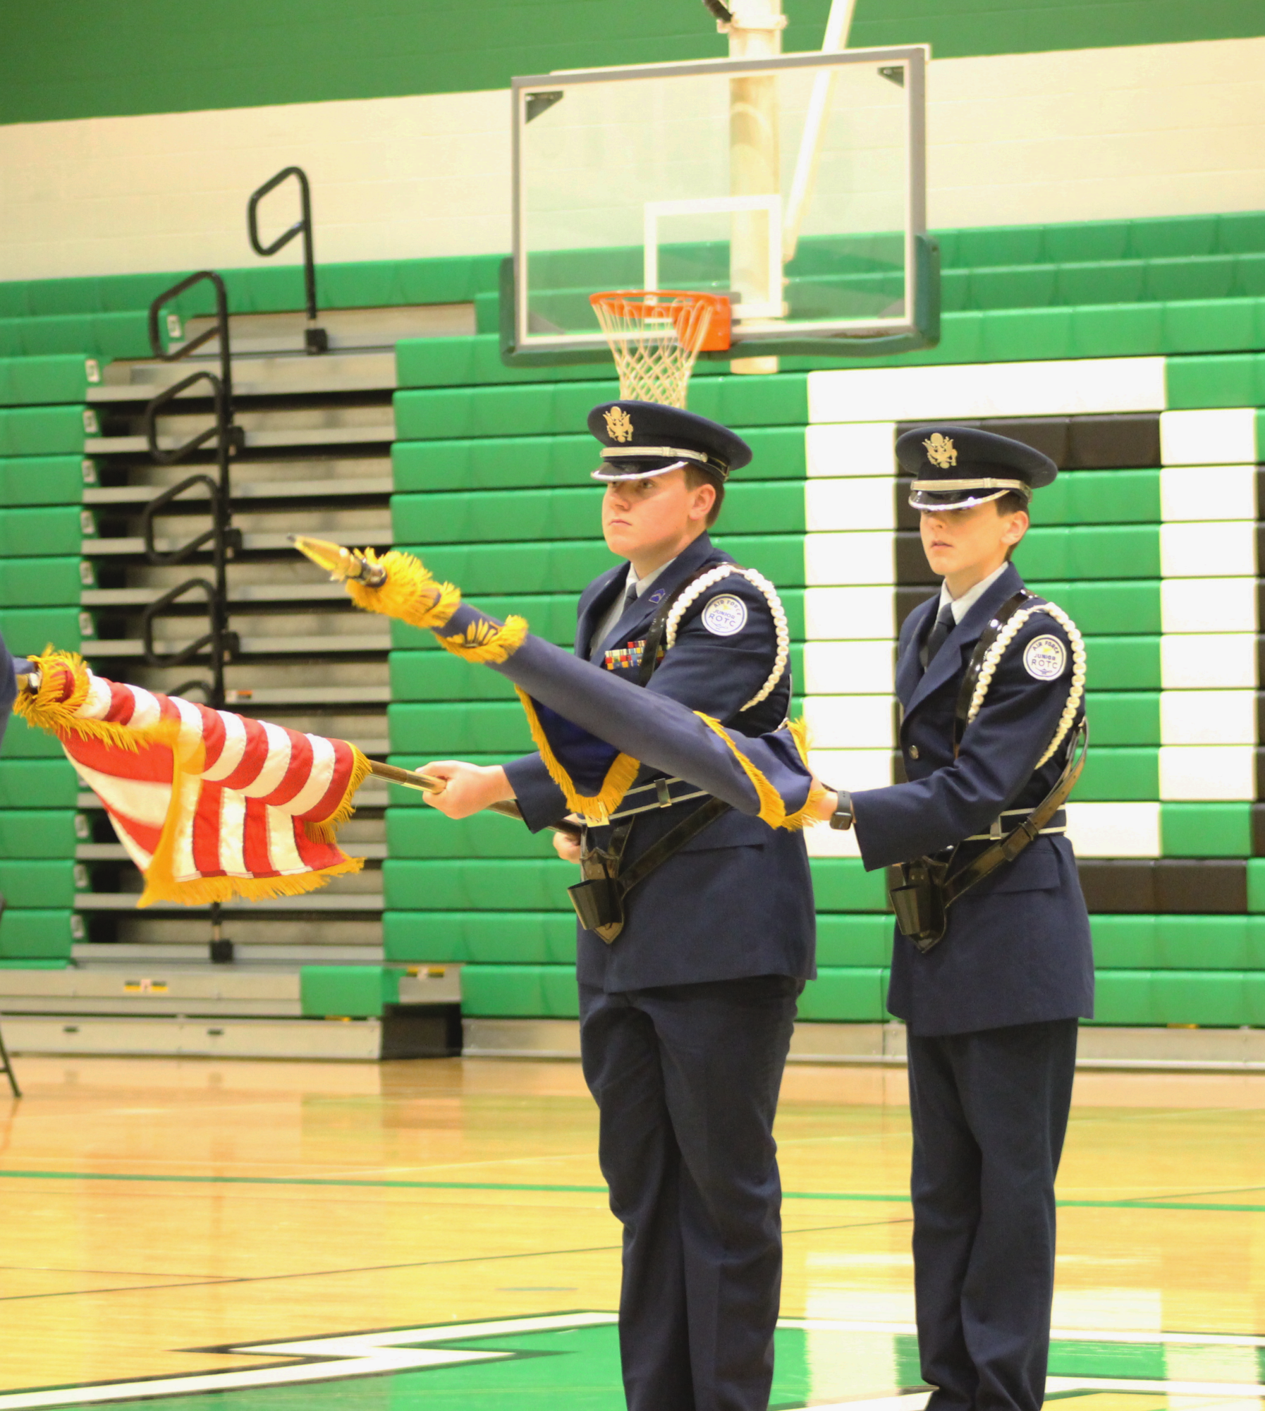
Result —
[[[786, 0], [788, 51], [828, 0]], [[1261, 0], [859, 0], [853, 45], [941, 58], [1265, 34]], [[698, 0], [0, 0], [0, 123], [505, 87], [726, 52]]]

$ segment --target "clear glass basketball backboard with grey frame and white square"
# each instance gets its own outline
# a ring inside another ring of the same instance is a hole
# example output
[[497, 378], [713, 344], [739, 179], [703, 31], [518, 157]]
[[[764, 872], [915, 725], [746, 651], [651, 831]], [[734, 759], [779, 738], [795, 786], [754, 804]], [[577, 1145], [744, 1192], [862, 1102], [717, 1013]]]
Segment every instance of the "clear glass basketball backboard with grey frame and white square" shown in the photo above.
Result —
[[602, 289], [728, 293], [742, 357], [934, 343], [927, 56], [910, 45], [515, 79], [506, 357], [605, 358], [589, 305]]

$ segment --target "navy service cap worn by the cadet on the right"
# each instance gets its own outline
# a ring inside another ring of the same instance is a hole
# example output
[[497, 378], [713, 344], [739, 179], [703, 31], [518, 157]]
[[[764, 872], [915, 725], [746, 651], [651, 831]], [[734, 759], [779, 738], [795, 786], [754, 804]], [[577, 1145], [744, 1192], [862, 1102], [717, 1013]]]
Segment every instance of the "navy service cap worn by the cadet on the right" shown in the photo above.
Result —
[[969, 509], [1013, 490], [1028, 501], [1059, 473], [1039, 450], [976, 426], [915, 426], [897, 439], [896, 459], [914, 477], [914, 509]]

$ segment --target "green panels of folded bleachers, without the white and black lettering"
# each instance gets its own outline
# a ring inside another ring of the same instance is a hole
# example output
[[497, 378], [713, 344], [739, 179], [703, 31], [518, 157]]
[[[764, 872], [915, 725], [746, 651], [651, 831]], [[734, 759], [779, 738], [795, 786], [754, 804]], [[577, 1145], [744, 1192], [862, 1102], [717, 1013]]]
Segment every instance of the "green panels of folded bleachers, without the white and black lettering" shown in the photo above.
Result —
[[[941, 346], [876, 365], [904, 375], [969, 363], [986, 378], [998, 360], [1154, 356], [1163, 358], [1162, 406], [1247, 416], [1265, 406], [1261, 214], [945, 231], [942, 248]], [[484, 327], [495, 277], [491, 257], [322, 270], [337, 291], [333, 303], [475, 299]], [[228, 278], [234, 308], [298, 302], [293, 271], [243, 270]], [[13, 353], [0, 346], [0, 631], [18, 649], [49, 638], [79, 641], [87, 357], [130, 350], [128, 330], [169, 279], [0, 284], [0, 334], [20, 340]], [[190, 303], [182, 312], [200, 310]], [[72, 329], [79, 341], [56, 344]], [[419, 549], [481, 605], [523, 611], [534, 629], [568, 642], [575, 593], [613, 562], [595, 533], [598, 495], [587, 481], [592, 442], [582, 432], [588, 409], [613, 392], [609, 374], [505, 368], [491, 333], [402, 343], [396, 367], [396, 542]], [[756, 450], [752, 470], [735, 480], [718, 538], [783, 590], [800, 682], [804, 643], [821, 638], [809, 629], [815, 580], [807, 550], [815, 532], [811, 380], [824, 367], [784, 360], [776, 375], [738, 378], [709, 364], [691, 388], [692, 409], [736, 426]], [[1248, 452], [1247, 459], [1262, 457]], [[1244, 889], [1234, 914], [1096, 912], [1099, 1022], [1265, 1023], [1259, 794], [1163, 792], [1172, 691], [1163, 602], [1172, 574], [1162, 480], [1158, 461], [1063, 474], [1038, 501], [1017, 559], [1087, 639], [1094, 749], [1075, 800], [1152, 807], [1161, 861], [1227, 864], [1240, 869], [1235, 885]], [[901, 571], [893, 576], [897, 591], [904, 591]], [[495, 759], [527, 748], [499, 677], [436, 652], [399, 624], [392, 641], [392, 758], [408, 765], [447, 752]], [[73, 772], [48, 742], [16, 725], [0, 752], [7, 865], [0, 865], [0, 890], [14, 889], [0, 923], [0, 962], [68, 954], [78, 885], [75, 793]], [[570, 871], [547, 840], [501, 818], [451, 824], [419, 807], [416, 794], [392, 790], [388, 841], [389, 962], [461, 962], [468, 1013], [574, 1015], [574, 934], [563, 890]], [[890, 959], [883, 879], [864, 875], [855, 858], [817, 856], [812, 871], [821, 978], [805, 993], [804, 1017], [881, 1019]], [[391, 1002], [377, 979], [358, 999], [354, 985], [322, 991], [322, 983], [319, 975], [305, 976], [305, 1012], [368, 1015]]]

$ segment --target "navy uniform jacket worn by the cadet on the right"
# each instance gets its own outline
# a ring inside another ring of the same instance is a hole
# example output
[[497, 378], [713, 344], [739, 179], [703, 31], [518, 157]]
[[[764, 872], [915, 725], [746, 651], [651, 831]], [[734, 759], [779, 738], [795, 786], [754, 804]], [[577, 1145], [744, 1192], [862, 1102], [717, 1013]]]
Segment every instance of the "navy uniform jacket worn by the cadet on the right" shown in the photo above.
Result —
[[[905, 619], [896, 693], [910, 782], [852, 796], [867, 869], [987, 832], [1003, 809], [1034, 807], [1058, 779], [1062, 745], [1032, 772], [1053, 738], [1072, 676], [1068, 634], [1045, 612], [1031, 617], [1007, 648], [953, 759], [953, 707], [970, 655], [993, 614], [1022, 586], [1008, 567], [949, 634], [925, 674], [918, 648], [939, 600], [929, 598]], [[1068, 648], [1063, 673], [1052, 682], [1024, 666], [1024, 648], [1044, 635]], [[967, 844], [959, 862], [986, 847]], [[1044, 835], [1003, 864], [953, 903], [943, 940], [925, 955], [897, 931], [887, 1007], [911, 1033], [928, 1036], [1093, 1017], [1089, 917], [1072, 844]]]

